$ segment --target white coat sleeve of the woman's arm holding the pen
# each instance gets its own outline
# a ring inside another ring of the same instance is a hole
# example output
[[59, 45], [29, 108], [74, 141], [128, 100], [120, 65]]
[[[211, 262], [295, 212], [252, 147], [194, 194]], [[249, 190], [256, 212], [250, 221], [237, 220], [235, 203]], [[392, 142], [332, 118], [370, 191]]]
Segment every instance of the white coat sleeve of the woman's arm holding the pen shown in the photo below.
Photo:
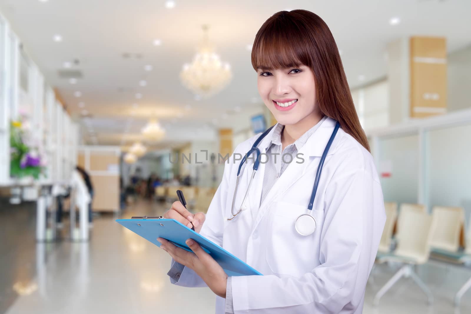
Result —
[[[227, 188], [229, 172], [231, 171], [232, 155], [229, 158], [229, 162], [226, 161], [224, 165], [224, 173], [222, 181], [219, 184], [216, 193], [211, 201], [206, 214], [206, 220], [204, 221], [203, 227], [201, 228], [200, 234], [209, 239], [210, 241], [222, 246], [222, 235], [224, 231], [224, 215], [223, 210], [226, 207]], [[175, 269], [176, 265], [172, 259], [171, 268]], [[178, 264], [178, 263], [176, 263]], [[169, 271], [171, 275], [172, 269]], [[183, 287], [207, 287], [206, 283], [197, 275], [191, 268], [183, 267], [181, 274], [179, 274], [179, 280], [175, 280], [173, 276], [170, 278], [170, 282]]]

